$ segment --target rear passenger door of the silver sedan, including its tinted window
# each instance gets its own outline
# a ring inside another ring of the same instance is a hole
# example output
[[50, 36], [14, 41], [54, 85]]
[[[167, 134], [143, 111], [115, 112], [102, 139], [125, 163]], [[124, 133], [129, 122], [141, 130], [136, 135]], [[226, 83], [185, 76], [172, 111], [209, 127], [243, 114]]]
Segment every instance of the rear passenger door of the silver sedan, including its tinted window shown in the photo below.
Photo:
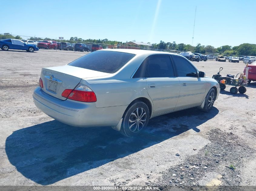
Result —
[[146, 82], [147, 92], [154, 106], [153, 115], [175, 109], [180, 93], [180, 82], [175, 75], [170, 55], [148, 57]]

